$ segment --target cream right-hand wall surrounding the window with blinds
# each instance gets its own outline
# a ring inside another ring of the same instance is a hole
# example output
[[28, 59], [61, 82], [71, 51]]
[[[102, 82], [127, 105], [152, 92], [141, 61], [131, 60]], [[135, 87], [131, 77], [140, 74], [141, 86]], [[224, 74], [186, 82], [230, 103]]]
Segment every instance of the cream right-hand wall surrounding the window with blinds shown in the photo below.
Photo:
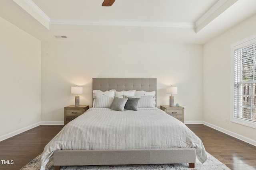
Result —
[[256, 141], [256, 129], [237, 123], [225, 123], [230, 118], [231, 45], [256, 34], [256, 15], [222, 33], [203, 47], [204, 121], [237, 135]]

